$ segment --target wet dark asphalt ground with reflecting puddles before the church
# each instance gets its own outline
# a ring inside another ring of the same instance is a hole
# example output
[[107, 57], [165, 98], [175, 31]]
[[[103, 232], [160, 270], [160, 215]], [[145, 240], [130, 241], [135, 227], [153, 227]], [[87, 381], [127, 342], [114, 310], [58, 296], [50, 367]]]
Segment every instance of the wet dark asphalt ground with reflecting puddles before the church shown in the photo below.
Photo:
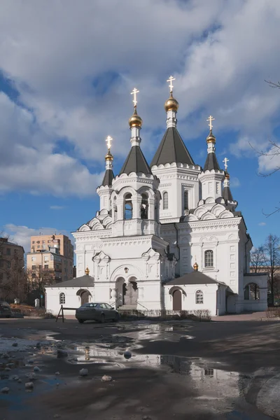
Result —
[[0, 420], [280, 419], [279, 321], [228, 318], [0, 319]]

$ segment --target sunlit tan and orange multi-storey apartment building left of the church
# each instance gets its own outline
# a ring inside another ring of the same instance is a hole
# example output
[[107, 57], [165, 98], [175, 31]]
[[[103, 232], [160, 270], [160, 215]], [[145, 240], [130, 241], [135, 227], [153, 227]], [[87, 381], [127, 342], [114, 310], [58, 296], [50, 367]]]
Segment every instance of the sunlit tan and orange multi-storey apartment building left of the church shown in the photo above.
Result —
[[73, 279], [73, 245], [65, 235], [31, 237], [31, 252], [27, 253], [29, 279], [53, 283]]

